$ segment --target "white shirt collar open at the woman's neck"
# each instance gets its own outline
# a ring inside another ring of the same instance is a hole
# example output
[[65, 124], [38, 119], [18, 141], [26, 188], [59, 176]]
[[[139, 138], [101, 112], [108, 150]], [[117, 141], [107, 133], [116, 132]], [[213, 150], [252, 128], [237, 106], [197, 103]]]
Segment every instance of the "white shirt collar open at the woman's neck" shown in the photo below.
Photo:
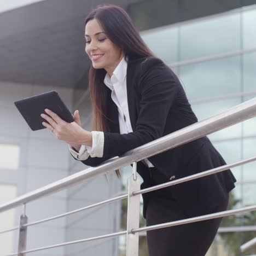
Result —
[[107, 73], [104, 78], [104, 84], [108, 86], [110, 90], [113, 91], [114, 83], [123, 83], [123, 80], [126, 78], [126, 73], [127, 73], [127, 61], [125, 60], [125, 56], [121, 61], [119, 62], [118, 66], [115, 68], [112, 76]]

